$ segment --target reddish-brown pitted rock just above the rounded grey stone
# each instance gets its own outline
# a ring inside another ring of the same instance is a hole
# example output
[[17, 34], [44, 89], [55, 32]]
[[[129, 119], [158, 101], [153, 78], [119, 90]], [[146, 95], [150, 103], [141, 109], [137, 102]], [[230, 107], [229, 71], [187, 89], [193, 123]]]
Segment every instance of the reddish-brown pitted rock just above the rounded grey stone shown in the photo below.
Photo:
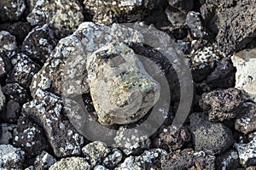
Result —
[[204, 111], [209, 111], [210, 121], [224, 121], [237, 116], [241, 111], [242, 102], [241, 91], [228, 88], [202, 94], [199, 104]]

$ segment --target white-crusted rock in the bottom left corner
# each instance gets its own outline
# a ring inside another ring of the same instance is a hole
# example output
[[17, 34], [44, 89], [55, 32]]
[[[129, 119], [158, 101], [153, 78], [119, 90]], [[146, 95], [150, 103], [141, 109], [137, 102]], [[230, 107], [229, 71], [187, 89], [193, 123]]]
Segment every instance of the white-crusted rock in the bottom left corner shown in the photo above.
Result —
[[22, 169], [24, 151], [11, 144], [0, 144], [0, 169]]

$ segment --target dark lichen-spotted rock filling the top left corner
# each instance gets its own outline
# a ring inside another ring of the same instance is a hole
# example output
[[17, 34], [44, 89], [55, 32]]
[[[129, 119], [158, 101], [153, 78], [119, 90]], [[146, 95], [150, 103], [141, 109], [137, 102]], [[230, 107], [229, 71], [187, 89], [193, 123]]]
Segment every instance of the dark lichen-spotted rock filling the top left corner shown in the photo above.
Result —
[[19, 20], [26, 9], [25, 0], [4, 0], [0, 2], [0, 20]]

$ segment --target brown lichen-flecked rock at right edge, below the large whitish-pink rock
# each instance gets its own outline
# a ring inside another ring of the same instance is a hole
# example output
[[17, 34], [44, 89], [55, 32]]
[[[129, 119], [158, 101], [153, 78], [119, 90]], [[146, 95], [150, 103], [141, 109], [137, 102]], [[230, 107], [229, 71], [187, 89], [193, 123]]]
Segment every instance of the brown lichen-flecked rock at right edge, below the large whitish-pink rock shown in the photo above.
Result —
[[256, 130], [256, 104], [246, 102], [240, 115], [236, 117], [235, 128], [241, 133], [251, 133]]

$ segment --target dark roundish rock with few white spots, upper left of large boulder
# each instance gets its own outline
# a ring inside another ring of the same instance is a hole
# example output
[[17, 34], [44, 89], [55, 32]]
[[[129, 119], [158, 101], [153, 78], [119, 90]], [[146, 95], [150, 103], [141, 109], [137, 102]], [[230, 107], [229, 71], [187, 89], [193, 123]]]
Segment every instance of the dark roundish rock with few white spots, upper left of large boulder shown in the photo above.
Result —
[[48, 25], [37, 26], [26, 36], [22, 43], [22, 51], [30, 58], [44, 63], [56, 44], [55, 34]]

